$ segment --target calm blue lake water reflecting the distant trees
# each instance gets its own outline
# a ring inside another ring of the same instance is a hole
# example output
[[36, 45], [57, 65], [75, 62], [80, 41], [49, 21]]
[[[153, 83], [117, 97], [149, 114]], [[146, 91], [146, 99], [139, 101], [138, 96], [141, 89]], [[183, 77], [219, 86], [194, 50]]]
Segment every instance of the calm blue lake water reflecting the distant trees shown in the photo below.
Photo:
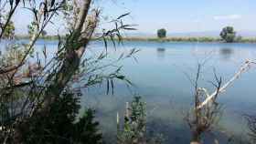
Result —
[[[38, 49], [46, 45], [48, 54], [53, 54], [57, 42], [39, 41]], [[103, 49], [103, 43], [93, 42], [89, 55], [97, 55]], [[184, 117], [192, 105], [193, 86], [189, 78], [194, 79], [197, 63], [206, 62], [199, 82], [200, 87], [213, 87], [208, 81], [213, 80], [213, 69], [218, 75], [228, 80], [239, 69], [245, 59], [256, 58], [255, 44], [219, 44], [219, 43], [158, 43], [125, 42], [116, 50], [109, 47], [109, 58], [118, 57], [131, 48], [140, 49], [135, 55], [137, 60], [128, 58], [117, 65], [123, 66], [123, 73], [133, 82], [127, 88], [122, 82], [115, 83], [114, 95], [106, 95], [105, 85], [84, 89], [82, 104], [97, 110], [104, 136], [115, 139], [116, 113], [123, 113], [125, 102], [134, 95], [142, 96], [147, 102], [148, 131], [165, 135], [166, 143], [176, 141], [188, 143], [189, 130]], [[256, 111], [256, 69], [245, 73], [232, 87], [219, 96], [223, 104], [223, 116], [216, 127], [224, 137], [246, 134], [244, 113]], [[207, 138], [212, 138], [209, 135]], [[222, 139], [223, 141], [227, 139]]]

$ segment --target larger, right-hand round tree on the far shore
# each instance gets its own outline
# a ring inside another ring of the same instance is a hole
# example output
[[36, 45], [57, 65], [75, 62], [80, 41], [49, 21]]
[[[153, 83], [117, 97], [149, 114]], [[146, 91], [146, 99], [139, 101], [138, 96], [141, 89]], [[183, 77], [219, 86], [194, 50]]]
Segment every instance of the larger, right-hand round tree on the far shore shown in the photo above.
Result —
[[227, 43], [232, 43], [235, 41], [236, 32], [232, 26], [226, 26], [222, 29], [219, 36], [221, 36]]

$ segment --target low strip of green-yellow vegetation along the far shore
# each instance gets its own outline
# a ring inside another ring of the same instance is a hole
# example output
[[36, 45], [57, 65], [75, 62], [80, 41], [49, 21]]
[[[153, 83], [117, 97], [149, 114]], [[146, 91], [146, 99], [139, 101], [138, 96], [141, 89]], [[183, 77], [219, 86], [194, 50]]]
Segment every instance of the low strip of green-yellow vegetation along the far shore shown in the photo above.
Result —
[[[40, 36], [40, 39], [45, 40], [58, 40], [65, 36]], [[16, 36], [16, 39], [29, 39], [29, 36]], [[102, 38], [93, 37], [92, 40], [103, 40]], [[111, 41], [111, 38], [105, 38], [105, 40]], [[113, 40], [118, 41], [117, 37]], [[144, 42], [203, 42], [203, 43], [226, 43], [220, 37], [214, 36], [168, 36], [165, 38], [158, 38], [153, 36], [125, 36], [122, 37], [122, 41], [144, 41]], [[233, 43], [256, 43], [256, 37], [240, 37]]]

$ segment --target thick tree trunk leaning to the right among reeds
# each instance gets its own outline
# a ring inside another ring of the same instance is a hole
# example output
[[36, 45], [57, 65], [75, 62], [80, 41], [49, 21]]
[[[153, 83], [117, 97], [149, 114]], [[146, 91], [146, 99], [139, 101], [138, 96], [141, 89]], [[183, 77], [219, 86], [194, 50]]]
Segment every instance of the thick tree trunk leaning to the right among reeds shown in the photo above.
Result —
[[[50, 104], [55, 101], [63, 89], [69, 83], [71, 77], [74, 76], [76, 71], [80, 67], [80, 58], [83, 56], [84, 49], [89, 43], [90, 37], [83, 38], [80, 42], [82, 26], [86, 22], [91, 5], [91, 0], [84, 0], [83, 5], [80, 7], [80, 13], [78, 15], [78, 22], [76, 23], [75, 29], [71, 36], [66, 42], [66, 56], [64, 58], [62, 66], [59, 68], [59, 72], [56, 74], [55, 80], [50, 84], [46, 91], [46, 98], [43, 102], [43, 108], [48, 108]], [[78, 8], [78, 7], [77, 7]], [[91, 29], [90, 34], [92, 35], [94, 29]]]

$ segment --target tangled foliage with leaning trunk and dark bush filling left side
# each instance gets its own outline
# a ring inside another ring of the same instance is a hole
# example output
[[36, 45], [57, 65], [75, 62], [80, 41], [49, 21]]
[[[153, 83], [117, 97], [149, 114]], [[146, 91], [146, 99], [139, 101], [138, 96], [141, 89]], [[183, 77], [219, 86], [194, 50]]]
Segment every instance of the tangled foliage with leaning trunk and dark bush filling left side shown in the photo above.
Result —
[[[127, 56], [123, 54], [118, 59], [110, 60], [105, 43], [106, 50], [103, 49], [99, 56], [87, 54], [85, 49], [94, 36], [101, 17], [101, 11], [93, 8], [91, 0], [80, 1], [79, 5], [66, 0], [5, 0], [3, 4], [6, 5], [1, 6], [0, 11], [6, 10], [3, 14], [6, 15], [6, 20], [1, 24], [1, 39], [4, 37], [6, 24], [20, 9], [26, 8], [32, 15], [30, 18], [33, 22], [27, 26], [30, 39], [26, 44], [11, 41], [12, 44], [6, 46], [15, 46], [13, 49], [21, 52], [13, 55], [14, 50], [6, 50], [0, 56], [6, 63], [0, 66], [0, 107], [3, 114], [0, 116], [1, 142], [82, 143], [91, 139], [91, 143], [98, 143], [96, 140], [101, 135], [93, 134], [98, 131], [98, 123], [92, 122], [93, 112], [88, 111], [76, 121], [75, 116], [80, 108], [77, 105], [78, 99], [66, 90], [88, 88], [104, 81], [111, 83], [107, 86], [108, 89], [114, 88], [114, 79], [130, 83], [121, 74], [121, 67], [116, 68], [114, 64], [125, 57], [133, 57], [136, 50], [133, 49]], [[72, 5], [73, 8], [66, 8], [67, 5]], [[52, 23], [52, 17], [63, 18], [61, 16], [64, 16], [63, 22], [69, 24], [69, 31], [64, 38], [58, 36], [59, 44], [55, 54], [49, 57], [46, 46], [42, 52], [36, 51], [37, 39], [44, 34], [45, 27]], [[114, 28], [105, 30], [101, 38], [121, 37], [123, 30], [132, 30], [130, 25], [124, 25], [124, 16], [113, 20]], [[103, 73], [107, 67], [117, 70], [110, 74]]]

